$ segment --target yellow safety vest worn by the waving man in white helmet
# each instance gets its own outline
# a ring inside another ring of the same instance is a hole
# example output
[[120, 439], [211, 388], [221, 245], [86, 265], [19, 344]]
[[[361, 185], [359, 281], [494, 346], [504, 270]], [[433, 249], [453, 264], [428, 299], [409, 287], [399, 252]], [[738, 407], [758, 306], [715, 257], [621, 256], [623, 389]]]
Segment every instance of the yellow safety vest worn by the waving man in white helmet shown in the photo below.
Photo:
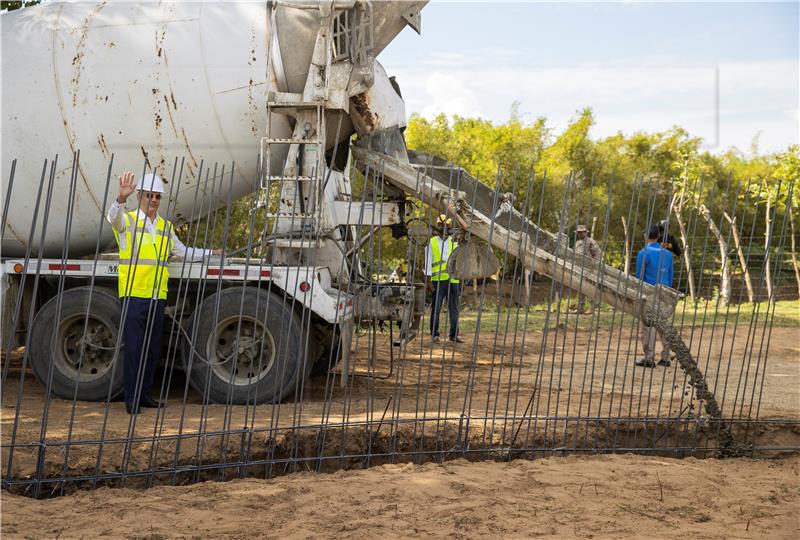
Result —
[[[119, 296], [158, 298], [166, 300], [169, 271], [167, 259], [172, 253], [172, 224], [159, 216], [156, 220], [156, 240], [145, 230], [138, 210], [125, 213], [125, 248], [119, 250]], [[119, 233], [114, 237], [119, 246]]]

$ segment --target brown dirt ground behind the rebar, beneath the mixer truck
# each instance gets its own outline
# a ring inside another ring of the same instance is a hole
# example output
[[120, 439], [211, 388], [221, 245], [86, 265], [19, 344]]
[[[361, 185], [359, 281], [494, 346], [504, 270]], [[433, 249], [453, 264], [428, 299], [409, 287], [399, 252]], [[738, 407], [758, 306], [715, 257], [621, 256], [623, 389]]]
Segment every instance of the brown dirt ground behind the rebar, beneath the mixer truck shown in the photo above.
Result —
[[[742, 424], [739, 442], [796, 449], [796, 329], [774, 328], [768, 357], [765, 338], [753, 339], [745, 330], [734, 335], [707, 327], [694, 334], [684, 329], [683, 335], [725, 416], [789, 420], [780, 431]], [[184, 393], [185, 382], [176, 374], [163, 396], [167, 408], [135, 418], [125, 414], [121, 402], [73, 404], [55, 397], [45, 417], [47, 400], [30, 372], [17, 411], [20, 372], [12, 370], [2, 398], [3, 466], [12, 440], [14, 478], [30, 477], [37, 460], [44, 464], [44, 477], [53, 478], [215, 461], [496, 448], [512, 442], [515, 448], [544, 450], [683, 448], [684, 455], [711, 444], [704, 438], [709, 433], [702, 404], [693, 399], [676, 362], [669, 368], [634, 369], [641, 353], [630, 328], [613, 333], [565, 328], [551, 331], [546, 340], [541, 331], [530, 331], [524, 343], [521, 333], [487, 329], [477, 340], [474, 334], [465, 339], [454, 346], [414, 340], [385, 380], [350, 378], [342, 387], [339, 376], [316, 377], [303, 389], [302, 401], [278, 405], [204, 405], [193, 390]], [[357, 336], [355, 372], [389, 374], [390, 355], [398, 349], [391, 347], [388, 334], [376, 341], [373, 349], [368, 336]]]

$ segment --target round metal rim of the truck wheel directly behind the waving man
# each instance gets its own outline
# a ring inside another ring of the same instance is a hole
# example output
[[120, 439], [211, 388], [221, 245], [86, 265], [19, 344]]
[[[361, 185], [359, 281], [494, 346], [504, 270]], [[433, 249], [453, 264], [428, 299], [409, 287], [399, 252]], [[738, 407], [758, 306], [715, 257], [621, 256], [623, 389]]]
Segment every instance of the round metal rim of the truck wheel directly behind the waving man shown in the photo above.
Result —
[[56, 334], [54, 362], [58, 369], [81, 383], [104, 377], [114, 365], [117, 336], [111, 325], [96, 315], [75, 314], [62, 319]]

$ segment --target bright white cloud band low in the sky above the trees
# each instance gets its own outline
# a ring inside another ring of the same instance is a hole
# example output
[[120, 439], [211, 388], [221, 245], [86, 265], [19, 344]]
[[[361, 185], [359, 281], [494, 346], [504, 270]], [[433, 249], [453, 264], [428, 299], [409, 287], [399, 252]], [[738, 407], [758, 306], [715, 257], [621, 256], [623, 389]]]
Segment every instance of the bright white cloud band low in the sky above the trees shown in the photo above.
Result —
[[762, 152], [782, 150], [800, 137], [798, 66], [791, 60], [523, 67], [498, 65], [490, 53], [431, 55], [430, 65], [395, 70], [407, 110], [426, 117], [444, 112], [504, 121], [511, 103], [519, 100], [528, 117], [546, 116], [558, 130], [576, 110], [590, 106], [597, 119], [595, 136], [677, 124], [703, 137], [712, 151], [749, 149], [759, 131]]

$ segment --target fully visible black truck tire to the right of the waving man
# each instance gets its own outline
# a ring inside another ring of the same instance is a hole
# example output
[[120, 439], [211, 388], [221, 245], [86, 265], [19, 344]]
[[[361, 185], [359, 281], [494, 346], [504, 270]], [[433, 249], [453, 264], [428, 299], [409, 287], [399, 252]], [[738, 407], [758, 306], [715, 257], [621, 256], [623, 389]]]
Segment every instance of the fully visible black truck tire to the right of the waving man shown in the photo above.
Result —
[[242, 298], [239, 287], [203, 300], [183, 359], [190, 384], [205, 401], [277, 403], [295, 392], [307, 370], [300, 318], [291, 304], [263, 289]]

